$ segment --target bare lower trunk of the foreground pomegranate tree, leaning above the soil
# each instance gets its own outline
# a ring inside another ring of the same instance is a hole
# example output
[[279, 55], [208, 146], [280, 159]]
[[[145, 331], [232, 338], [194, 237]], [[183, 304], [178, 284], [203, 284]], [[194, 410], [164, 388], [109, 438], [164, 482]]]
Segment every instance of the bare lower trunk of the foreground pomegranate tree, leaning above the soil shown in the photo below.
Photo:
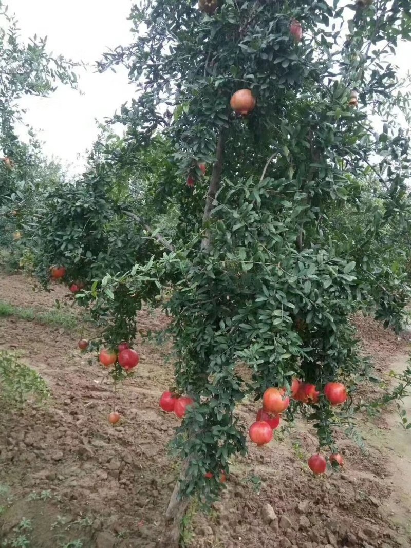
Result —
[[182, 518], [184, 518], [187, 506], [190, 502], [190, 499], [187, 496], [181, 498], [180, 481], [185, 479], [188, 466], [189, 462], [186, 459], [184, 463], [182, 463], [180, 477], [174, 486], [173, 494], [170, 498], [167, 511], [165, 512], [163, 534], [161, 539], [159, 539], [156, 548], [179, 548], [180, 546]]

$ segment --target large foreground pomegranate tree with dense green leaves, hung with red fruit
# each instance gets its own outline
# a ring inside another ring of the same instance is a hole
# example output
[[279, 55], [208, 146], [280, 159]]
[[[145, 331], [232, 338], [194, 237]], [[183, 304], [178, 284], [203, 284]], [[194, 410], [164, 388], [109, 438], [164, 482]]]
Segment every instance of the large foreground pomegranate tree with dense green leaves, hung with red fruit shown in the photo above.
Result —
[[[302, 412], [319, 450], [337, 452], [352, 399], [331, 406], [324, 386], [342, 381], [352, 396], [370, 372], [351, 315], [373, 311], [399, 330], [409, 299], [407, 260], [394, 264], [389, 238], [410, 211], [409, 139], [395, 123], [409, 98], [389, 57], [410, 38], [408, 1], [199, 8], [133, 7], [135, 42], [99, 65], [124, 63], [137, 84], [113, 117], [125, 136], [100, 142], [83, 180], [50, 193], [26, 228], [44, 282], [63, 264], [64, 281], [85, 283], [77, 299], [93, 301], [106, 346], [133, 340], [143, 301], [172, 317], [174, 389], [195, 403], [174, 441], [183, 464], [162, 547], [178, 545], [189, 496], [218, 495], [221, 471], [246, 452], [244, 397], [290, 390], [295, 376], [317, 387], [286, 420]], [[370, 115], [389, 122], [377, 138]], [[157, 230], [166, 207], [179, 215], [172, 242]], [[352, 219], [342, 228], [341, 212]]]

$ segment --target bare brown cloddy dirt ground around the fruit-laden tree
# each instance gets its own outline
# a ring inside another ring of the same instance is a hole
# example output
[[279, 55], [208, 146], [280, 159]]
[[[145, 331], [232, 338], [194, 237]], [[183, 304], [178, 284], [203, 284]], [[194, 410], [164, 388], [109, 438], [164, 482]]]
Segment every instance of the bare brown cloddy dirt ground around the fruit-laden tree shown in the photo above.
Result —
[[[56, 297], [64, 299], [61, 286], [36, 293], [30, 279], [0, 275], [0, 300], [52, 310]], [[370, 318], [356, 323], [363, 351], [382, 378], [406, 363], [408, 336], [398, 338]], [[158, 312], [139, 316], [143, 329], [164, 324]], [[172, 380], [170, 347], [138, 340], [138, 373], [118, 390], [123, 419], [112, 427], [111, 382], [79, 353], [77, 339], [78, 333], [62, 328], [0, 318], [0, 349], [22, 352], [53, 395], [44, 406], [0, 413], [0, 546], [154, 548], [177, 472], [167, 443], [179, 420], [158, 407]], [[239, 407], [247, 425], [256, 410], [255, 403]], [[250, 447], [247, 458], [233, 463], [221, 501], [208, 513], [192, 508], [186, 546], [411, 546], [411, 432], [393, 408], [375, 419], [363, 416], [358, 429], [368, 453], [341, 433], [345, 468], [323, 477], [307, 468], [316, 438], [300, 421], [268, 447]], [[252, 476], [261, 478], [259, 493]], [[278, 517], [270, 525], [262, 512], [266, 503]]]

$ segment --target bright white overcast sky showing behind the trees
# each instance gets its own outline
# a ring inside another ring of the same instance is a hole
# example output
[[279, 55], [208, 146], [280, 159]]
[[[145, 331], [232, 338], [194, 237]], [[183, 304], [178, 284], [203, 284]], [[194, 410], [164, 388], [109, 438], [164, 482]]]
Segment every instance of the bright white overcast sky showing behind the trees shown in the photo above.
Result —
[[[93, 65], [102, 52], [130, 43], [132, 34], [127, 17], [132, 0], [5, 0], [9, 11], [20, 21], [23, 38], [48, 37], [48, 48], [73, 60]], [[411, 43], [402, 43], [395, 58], [403, 75], [409, 70]], [[71, 163], [71, 172], [81, 172], [85, 152], [98, 134], [95, 119], [111, 116], [123, 102], [130, 100], [134, 87], [128, 84], [127, 72], [93, 72], [92, 66], [81, 71], [81, 93], [60, 87], [49, 98], [26, 96], [26, 122], [44, 141], [47, 156]], [[41, 130], [41, 131], [40, 131]], [[79, 158], [78, 158], [79, 156]]]

